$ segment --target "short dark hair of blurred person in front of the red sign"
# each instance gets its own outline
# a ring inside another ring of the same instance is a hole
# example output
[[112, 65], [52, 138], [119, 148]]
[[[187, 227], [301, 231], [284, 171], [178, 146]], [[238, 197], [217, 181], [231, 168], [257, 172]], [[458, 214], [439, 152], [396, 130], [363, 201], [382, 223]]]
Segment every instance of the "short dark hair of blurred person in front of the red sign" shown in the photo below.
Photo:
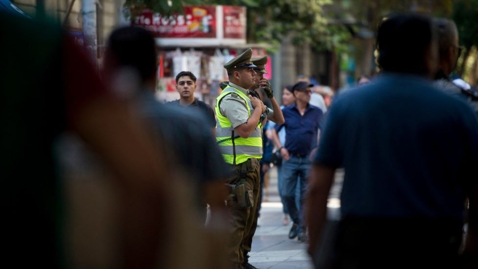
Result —
[[138, 26], [120, 27], [108, 38], [107, 49], [120, 65], [137, 70], [143, 82], [156, 75], [156, 43], [148, 30]]

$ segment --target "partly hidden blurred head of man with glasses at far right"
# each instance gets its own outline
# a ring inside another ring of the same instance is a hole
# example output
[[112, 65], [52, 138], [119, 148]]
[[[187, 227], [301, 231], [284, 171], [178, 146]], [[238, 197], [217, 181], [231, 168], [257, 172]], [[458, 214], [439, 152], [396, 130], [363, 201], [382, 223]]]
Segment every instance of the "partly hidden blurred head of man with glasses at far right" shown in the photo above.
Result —
[[453, 21], [444, 18], [434, 18], [433, 24], [438, 38], [438, 67], [445, 75], [449, 75], [461, 52], [458, 46], [458, 29]]

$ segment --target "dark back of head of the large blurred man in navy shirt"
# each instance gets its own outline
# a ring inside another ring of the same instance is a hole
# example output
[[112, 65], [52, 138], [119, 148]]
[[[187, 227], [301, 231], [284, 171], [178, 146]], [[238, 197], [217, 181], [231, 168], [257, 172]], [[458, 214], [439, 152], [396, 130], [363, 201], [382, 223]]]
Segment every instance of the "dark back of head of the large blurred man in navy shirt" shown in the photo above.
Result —
[[386, 72], [431, 77], [436, 70], [437, 46], [431, 19], [417, 14], [386, 18], [377, 33], [377, 63]]

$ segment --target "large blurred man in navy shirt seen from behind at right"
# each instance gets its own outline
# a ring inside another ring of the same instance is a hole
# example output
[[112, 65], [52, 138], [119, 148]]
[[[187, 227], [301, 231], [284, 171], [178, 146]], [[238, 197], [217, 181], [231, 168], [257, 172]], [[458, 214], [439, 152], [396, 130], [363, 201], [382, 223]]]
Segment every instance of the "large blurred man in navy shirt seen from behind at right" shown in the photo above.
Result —
[[307, 201], [309, 253], [320, 260], [327, 198], [343, 167], [342, 219], [335, 245], [322, 246], [333, 248], [332, 268], [459, 268], [466, 196], [464, 251], [476, 261], [478, 122], [431, 84], [437, 49], [430, 18], [387, 18], [377, 49], [382, 73], [336, 97], [321, 136]]

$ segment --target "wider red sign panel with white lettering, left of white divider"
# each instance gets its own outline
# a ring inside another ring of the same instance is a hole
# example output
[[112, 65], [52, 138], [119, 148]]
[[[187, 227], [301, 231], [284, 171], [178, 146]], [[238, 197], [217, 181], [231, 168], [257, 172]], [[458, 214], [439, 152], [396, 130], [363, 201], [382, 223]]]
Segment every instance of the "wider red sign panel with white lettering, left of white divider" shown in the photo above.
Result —
[[161, 16], [145, 9], [133, 18], [132, 24], [152, 31], [157, 37], [215, 38], [216, 7], [185, 6], [184, 14]]

